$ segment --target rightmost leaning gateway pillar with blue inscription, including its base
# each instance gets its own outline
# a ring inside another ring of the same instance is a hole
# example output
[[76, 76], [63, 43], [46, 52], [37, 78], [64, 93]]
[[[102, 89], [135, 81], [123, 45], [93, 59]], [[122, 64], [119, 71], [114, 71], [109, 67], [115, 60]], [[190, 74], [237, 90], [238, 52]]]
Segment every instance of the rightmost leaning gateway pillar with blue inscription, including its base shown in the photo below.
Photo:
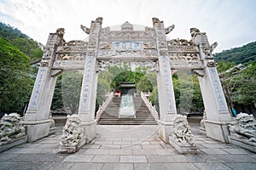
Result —
[[[231, 117], [218, 78], [216, 62], [212, 59], [212, 46], [209, 45], [206, 33], [198, 30], [192, 34], [192, 41], [200, 49], [204, 67], [204, 76], [198, 77], [198, 79], [207, 113], [205, 121], [207, 136], [227, 143], [229, 135], [227, 123], [231, 121]], [[216, 43], [212, 45], [216, 47]]]

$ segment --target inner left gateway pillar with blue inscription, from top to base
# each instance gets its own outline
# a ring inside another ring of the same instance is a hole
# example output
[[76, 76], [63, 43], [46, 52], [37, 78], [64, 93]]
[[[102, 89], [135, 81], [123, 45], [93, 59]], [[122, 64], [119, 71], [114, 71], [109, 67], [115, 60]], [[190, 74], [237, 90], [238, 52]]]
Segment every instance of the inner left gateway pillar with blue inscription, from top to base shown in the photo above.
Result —
[[91, 21], [87, 55], [84, 65], [84, 77], [79, 101], [79, 116], [84, 128], [86, 143], [96, 137], [96, 51], [99, 43], [102, 18]]

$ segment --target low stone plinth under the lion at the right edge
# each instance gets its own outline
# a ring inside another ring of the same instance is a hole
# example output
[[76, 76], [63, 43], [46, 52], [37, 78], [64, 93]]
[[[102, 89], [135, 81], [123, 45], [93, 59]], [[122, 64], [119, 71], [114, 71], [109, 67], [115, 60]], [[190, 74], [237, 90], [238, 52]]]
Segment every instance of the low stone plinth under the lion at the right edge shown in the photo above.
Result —
[[256, 143], [248, 142], [247, 139], [239, 139], [236, 136], [229, 136], [229, 142], [230, 144], [235, 144], [236, 146], [256, 153]]

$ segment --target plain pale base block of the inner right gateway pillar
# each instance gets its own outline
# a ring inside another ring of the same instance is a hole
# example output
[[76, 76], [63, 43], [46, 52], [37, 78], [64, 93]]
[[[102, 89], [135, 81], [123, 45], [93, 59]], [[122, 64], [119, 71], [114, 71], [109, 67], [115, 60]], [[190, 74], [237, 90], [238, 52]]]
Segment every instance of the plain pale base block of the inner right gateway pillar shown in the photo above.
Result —
[[173, 122], [161, 122], [158, 121], [159, 125], [159, 138], [166, 144], [169, 144], [169, 136], [172, 135]]

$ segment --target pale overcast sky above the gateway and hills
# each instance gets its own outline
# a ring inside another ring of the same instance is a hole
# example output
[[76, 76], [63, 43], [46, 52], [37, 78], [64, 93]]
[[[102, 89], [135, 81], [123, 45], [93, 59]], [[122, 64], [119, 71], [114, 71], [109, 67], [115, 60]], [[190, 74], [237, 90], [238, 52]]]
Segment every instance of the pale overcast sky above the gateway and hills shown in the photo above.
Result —
[[66, 30], [65, 40], [83, 40], [80, 25], [102, 16], [102, 26], [152, 26], [152, 17], [175, 25], [170, 38], [190, 39], [189, 29], [207, 32], [214, 52], [256, 41], [255, 0], [0, 0], [0, 20], [45, 45], [49, 32]]

